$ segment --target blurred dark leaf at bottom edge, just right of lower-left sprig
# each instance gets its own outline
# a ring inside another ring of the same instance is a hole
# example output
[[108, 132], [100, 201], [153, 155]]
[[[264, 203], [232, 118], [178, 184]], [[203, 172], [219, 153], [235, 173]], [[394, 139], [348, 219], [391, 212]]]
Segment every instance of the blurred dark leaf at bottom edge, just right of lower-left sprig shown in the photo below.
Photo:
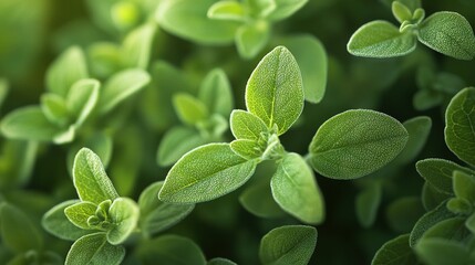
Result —
[[193, 264], [206, 265], [206, 258], [193, 241], [177, 235], [164, 235], [145, 241], [135, 250], [143, 264]]

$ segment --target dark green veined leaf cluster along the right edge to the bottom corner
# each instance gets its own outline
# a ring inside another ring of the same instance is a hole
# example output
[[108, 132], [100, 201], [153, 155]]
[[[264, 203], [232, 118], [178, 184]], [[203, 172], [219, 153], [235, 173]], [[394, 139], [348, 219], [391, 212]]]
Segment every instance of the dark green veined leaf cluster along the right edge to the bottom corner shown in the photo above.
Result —
[[402, 262], [403, 256], [407, 258], [404, 264], [474, 263], [474, 100], [475, 88], [464, 88], [452, 98], [445, 113], [445, 142], [469, 167], [440, 158], [419, 161], [417, 172], [425, 180], [422, 202], [427, 212], [410, 234], [384, 244], [372, 264]]

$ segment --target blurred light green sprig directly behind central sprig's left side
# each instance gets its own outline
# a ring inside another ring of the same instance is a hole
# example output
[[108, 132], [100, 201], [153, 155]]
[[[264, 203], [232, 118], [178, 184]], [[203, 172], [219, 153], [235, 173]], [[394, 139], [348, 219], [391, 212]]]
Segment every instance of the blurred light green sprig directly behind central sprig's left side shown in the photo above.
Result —
[[157, 161], [163, 167], [175, 163], [189, 150], [213, 141], [221, 141], [228, 129], [227, 118], [234, 108], [233, 92], [223, 70], [208, 73], [198, 96], [177, 93], [173, 106], [184, 126], [169, 129], [158, 146]]

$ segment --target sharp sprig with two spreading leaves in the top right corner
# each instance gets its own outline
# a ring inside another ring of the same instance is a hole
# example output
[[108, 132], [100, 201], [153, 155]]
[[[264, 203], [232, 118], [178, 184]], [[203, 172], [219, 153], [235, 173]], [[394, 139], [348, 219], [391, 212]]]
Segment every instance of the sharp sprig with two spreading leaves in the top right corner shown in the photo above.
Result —
[[394, 57], [413, 52], [417, 41], [430, 49], [458, 60], [473, 60], [475, 35], [459, 13], [441, 11], [425, 18], [420, 1], [393, 1], [392, 12], [401, 23], [375, 20], [358, 29], [347, 44], [357, 56]]

